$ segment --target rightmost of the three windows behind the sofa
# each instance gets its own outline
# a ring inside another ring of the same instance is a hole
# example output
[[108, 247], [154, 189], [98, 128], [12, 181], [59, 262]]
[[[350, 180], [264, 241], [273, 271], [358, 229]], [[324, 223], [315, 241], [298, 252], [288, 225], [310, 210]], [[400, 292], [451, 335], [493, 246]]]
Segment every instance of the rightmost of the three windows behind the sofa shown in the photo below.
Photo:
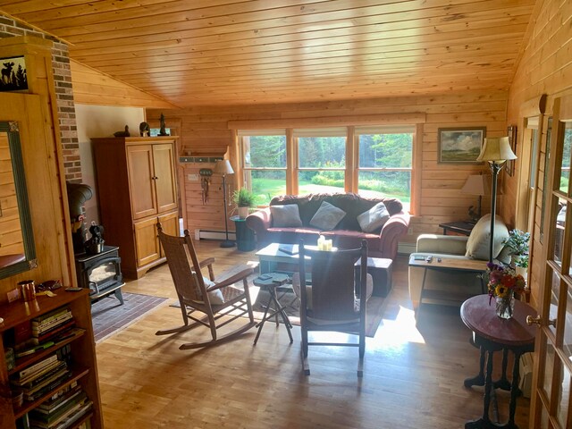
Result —
[[356, 129], [360, 195], [399, 198], [409, 210], [414, 133], [413, 127]]

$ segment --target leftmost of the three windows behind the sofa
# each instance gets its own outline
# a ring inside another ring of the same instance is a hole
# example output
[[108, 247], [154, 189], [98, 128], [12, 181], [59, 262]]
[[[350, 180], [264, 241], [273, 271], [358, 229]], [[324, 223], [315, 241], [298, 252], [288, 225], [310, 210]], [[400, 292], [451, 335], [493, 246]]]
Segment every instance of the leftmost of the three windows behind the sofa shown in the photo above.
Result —
[[257, 195], [257, 204], [267, 205], [276, 195], [286, 194], [286, 134], [284, 130], [240, 131], [244, 187]]

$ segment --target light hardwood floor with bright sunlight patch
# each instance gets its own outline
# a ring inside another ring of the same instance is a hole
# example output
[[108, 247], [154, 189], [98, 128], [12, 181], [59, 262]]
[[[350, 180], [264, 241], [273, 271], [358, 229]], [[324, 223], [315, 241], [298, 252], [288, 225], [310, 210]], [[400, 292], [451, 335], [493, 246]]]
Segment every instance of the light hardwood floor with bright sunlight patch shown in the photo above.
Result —
[[[214, 241], [198, 242], [198, 252], [216, 258], [215, 273], [256, 260], [254, 252]], [[123, 290], [175, 298], [166, 265]], [[157, 329], [181, 324], [170, 301], [97, 344], [105, 428], [450, 428], [482, 415], [483, 388], [463, 387], [478, 368], [470, 332], [458, 307], [425, 306], [416, 326], [407, 257], [395, 262], [383, 322], [367, 339], [362, 380], [353, 348], [310, 348], [312, 374], [303, 375], [298, 327], [293, 344], [282, 326], [266, 324], [254, 347], [252, 330], [215, 348], [180, 350], [206, 330], [157, 337]], [[497, 396], [505, 421], [509, 395]], [[518, 400], [521, 428], [528, 406]]]

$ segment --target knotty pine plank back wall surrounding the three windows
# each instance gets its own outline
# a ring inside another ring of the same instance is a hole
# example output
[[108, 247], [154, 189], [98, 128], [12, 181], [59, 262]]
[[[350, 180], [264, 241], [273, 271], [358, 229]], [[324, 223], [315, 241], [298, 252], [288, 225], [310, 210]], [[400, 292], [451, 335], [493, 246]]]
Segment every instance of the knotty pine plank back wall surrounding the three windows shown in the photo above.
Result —
[[[314, 126], [324, 126], [324, 123], [348, 126], [351, 125], [350, 120], [357, 118], [357, 114], [361, 114], [360, 118], [366, 117], [366, 122], [374, 121], [375, 118], [382, 125], [391, 123], [391, 118], [395, 122], [418, 121], [422, 123], [422, 126], [417, 125], [418, 139], [421, 143], [416, 142], [416, 150], [419, 150], [419, 153], [416, 154], [414, 160], [416, 170], [420, 169], [416, 171], [420, 180], [415, 181], [417, 199], [414, 198], [413, 201], [413, 204], [417, 205], [417, 207], [414, 206], [416, 216], [411, 220], [414, 234], [404, 238], [405, 241], [412, 242], [416, 240], [416, 235], [419, 233], [440, 232], [437, 227], [439, 223], [466, 219], [468, 206], [475, 205], [476, 201], [475, 198], [462, 196], [458, 189], [462, 187], [469, 174], [488, 173], [489, 171], [484, 164], [437, 164], [438, 129], [455, 126], [486, 126], [488, 136], [506, 135], [507, 99], [508, 95], [502, 91], [464, 91], [436, 96], [368, 98], [307, 104], [205, 106], [165, 111], [164, 114], [181, 118], [183, 146], [189, 146], [191, 150], [196, 150], [196, 148], [205, 150], [205, 147], [210, 144], [213, 146], [210, 146], [208, 150], [218, 153], [224, 153], [226, 146], [232, 144], [231, 137], [222, 140], [219, 138], [203, 139], [200, 142], [201, 146], [198, 147], [198, 139], [189, 139], [189, 135], [198, 130], [201, 136], [206, 136], [204, 131], [211, 126], [218, 133], [221, 122], [225, 120], [229, 122], [229, 127], [233, 130], [240, 129], [240, 126], [248, 127], [248, 129], [276, 128], [285, 125], [296, 127], [300, 123]], [[160, 112], [156, 109], [149, 109], [147, 115], [156, 116]], [[206, 140], [208, 143], [205, 143]], [[295, 158], [296, 154], [292, 153], [292, 156]], [[290, 161], [290, 164], [294, 165], [295, 160]], [[294, 172], [291, 174], [289, 176], [291, 183], [295, 183]], [[290, 181], [288, 186], [290, 186]], [[444, 186], [450, 192], [441, 192]], [[296, 190], [289, 189], [288, 192], [296, 192]], [[187, 221], [189, 225], [193, 223], [205, 225], [204, 220], [193, 220], [191, 207], [202, 206], [202, 204], [198, 192], [192, 195], [198, 199], [187, 201]], [[185, 196], [189, 198], [189, 192], [185, 192]], [[486, 199], [484, 198], [483, 201], [484, 214], [490, 207], [490, 201]], [[436, 200], [439, 202], [436, 203]], [[501, 204], [500, 198], [499, 206]], [[431, 222], [425, 223], [425, 217], [431, 219]], [[218, 225], [211, 223], [208, 227], [223, 230], [222, 216], [218, 222]], [[201, 227], [206, 228], [206, 225]]]

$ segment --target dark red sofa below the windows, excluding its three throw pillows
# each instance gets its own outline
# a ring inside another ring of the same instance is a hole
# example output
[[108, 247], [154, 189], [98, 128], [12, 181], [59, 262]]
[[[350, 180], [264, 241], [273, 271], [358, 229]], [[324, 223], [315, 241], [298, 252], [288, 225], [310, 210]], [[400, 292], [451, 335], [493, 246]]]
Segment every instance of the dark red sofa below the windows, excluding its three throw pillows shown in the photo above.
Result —
[[[322, 231], [309, 225], [315, 212], [327, 201], [341, 208], [346, 215], [332, 231]], [[389, 220], [383, 224], [381, 231], [367, 233], [361, 230], [357, 216], [383, 202], [390, 214]], [[396, 198], [363, 198], [353, 193], [345, 194], [309, 194], [303, 196], [286, 195], [274, 197], [270, 206], [297, 204], [302, 226], [274, 227], [269, 207], [249, 214], [246, 224], [257, 235], [257, 247], [264, 248], [270, 243], [296, 244], [300, 239], [309, 245], [315, 245], [320, 234], [333, 240], [337, 248], [358, 248], [361, 240], [367, 240], [368, 257], [385, 257], [394, 259], [400, 237], [407, 234], [409, 214]]]

